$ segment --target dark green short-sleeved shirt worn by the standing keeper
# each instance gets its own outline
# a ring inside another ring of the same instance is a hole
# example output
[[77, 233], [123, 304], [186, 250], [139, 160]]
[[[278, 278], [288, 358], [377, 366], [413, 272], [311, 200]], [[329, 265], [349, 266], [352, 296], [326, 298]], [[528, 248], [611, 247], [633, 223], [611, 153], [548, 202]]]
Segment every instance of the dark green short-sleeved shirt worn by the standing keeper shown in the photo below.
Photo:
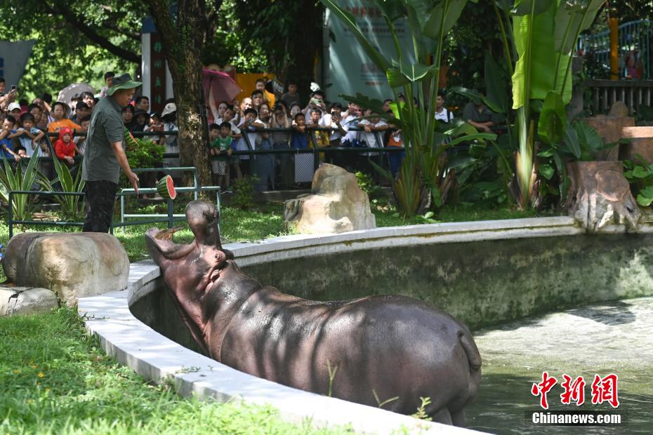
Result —
[[88, 126], [84, 163], [81, 166], [84, 180], [108, 180], [118, 184], [120, 165], [111, 144], [121, 141], [124, 149], [124, 132], [121, 107], [107, 95], [95, 105]]

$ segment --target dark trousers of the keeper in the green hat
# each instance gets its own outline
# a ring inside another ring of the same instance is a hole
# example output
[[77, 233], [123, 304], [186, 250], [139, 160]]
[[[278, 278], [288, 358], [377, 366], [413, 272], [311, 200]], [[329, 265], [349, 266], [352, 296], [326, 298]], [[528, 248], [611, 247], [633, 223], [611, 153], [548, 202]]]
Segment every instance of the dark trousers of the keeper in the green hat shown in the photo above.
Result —
[[84, 186], [86, 217], [82, 231], [98, 233], [109, 231], [117, 190], [118, 185], [108, 180], [86, 182]]

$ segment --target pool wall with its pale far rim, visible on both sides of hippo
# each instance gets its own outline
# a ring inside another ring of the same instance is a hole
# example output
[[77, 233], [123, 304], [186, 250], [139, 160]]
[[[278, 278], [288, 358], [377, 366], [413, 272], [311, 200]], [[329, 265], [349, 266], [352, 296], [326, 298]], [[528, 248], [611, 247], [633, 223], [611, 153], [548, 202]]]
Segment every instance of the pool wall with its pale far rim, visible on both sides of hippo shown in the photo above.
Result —
[[[474, 330], [653, 295], [653, 226], [640, 234], [619, 226], [604, 231], [587, 235], [569, 217], [548, 217], [286, 236], [225, 248], [246, 274], [284, 293], [312, 300], [407, 295]], [[192, 343], [161, 283], [131, 298], [130, 308], [155, 330]]]

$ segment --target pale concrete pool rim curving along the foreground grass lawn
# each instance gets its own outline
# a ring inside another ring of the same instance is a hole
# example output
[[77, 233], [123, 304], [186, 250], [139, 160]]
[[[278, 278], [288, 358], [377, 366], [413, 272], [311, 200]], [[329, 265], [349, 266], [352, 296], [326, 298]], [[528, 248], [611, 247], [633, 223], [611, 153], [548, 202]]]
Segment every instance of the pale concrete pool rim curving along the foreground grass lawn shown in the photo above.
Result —
[[128, 290], [83, 297], [78, 306], [86, 329], [100, 338], [103, 350], [148, 380], [170, 378], [182, 396], [269, 404], [279, 410], [284, 420], [310, 422], [314, 427], [349, 425], [356, 431], [374, 434], [480, 433], [285, 387], [186, 349], [129, 311], [132, 297], [151, 291], [157, 285], [157, 276], [159, 267], [152, 261], [132, 263]]

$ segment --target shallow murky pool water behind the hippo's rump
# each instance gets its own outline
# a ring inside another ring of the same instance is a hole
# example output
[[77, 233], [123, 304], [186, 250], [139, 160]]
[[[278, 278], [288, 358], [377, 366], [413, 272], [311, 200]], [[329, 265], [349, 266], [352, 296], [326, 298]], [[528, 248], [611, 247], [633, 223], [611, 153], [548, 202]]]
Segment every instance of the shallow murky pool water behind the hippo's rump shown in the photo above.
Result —
[[[495, 434], [653, 434], [653, 297], [605, 302], [474, 333], [483, 359], [482, 383], [467, 408], [468, 427]], [[621, 414], [611, 427], [540, 426], [531, 394], [546, 371], [558, 380], [549, 410]], [[595, 374], [618, 375], [619, 408], [593, 405]], [[585, 403], [561, 403], [562, 375], [583, 376]]]

